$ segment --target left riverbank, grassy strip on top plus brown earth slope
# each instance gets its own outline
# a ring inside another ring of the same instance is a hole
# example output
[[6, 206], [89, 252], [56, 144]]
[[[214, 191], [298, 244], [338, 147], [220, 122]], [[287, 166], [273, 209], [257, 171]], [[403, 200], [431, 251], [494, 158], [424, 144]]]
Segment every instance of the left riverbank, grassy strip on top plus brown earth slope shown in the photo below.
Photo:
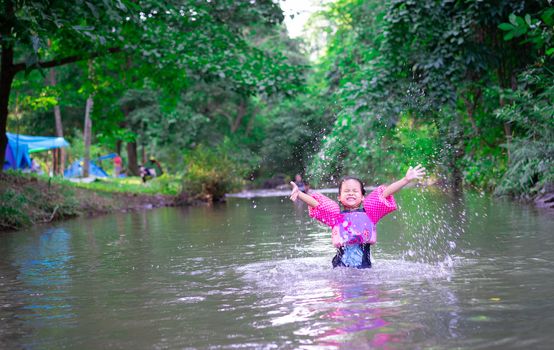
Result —
[[139, 177], [77, 183], [61, 177], [6, 171], [0, 173], [0, 231], [138, 208], [144, 203], [163, 205], [160, 203], [171, 203], [170, 198], [177, 197], [181, 187], [181, 177], [168, 175], [146, 183]]

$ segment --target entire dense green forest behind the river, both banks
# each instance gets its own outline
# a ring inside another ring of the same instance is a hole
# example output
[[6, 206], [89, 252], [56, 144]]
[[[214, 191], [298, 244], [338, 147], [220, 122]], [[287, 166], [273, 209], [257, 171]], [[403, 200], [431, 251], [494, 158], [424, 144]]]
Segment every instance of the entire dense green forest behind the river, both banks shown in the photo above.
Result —
[[2, 156], [4, 130], [60, 135], [66, 164], [117, 152], [137, 175], [155, 156], [191, 192], [417, 163], [498, 195], [554, 183], [548, 0], [337, 0], [314, 41], [271, 0], [1, 6]]

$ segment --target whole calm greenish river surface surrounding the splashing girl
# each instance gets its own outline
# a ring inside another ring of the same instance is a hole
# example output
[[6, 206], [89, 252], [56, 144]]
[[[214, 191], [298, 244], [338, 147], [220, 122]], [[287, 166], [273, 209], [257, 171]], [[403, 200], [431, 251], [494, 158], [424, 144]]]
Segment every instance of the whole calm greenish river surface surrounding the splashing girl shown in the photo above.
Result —
[[0, 235], [2, 349], [547, 349], [554, 216], [407, 189], [373, 268], [286, 197]]

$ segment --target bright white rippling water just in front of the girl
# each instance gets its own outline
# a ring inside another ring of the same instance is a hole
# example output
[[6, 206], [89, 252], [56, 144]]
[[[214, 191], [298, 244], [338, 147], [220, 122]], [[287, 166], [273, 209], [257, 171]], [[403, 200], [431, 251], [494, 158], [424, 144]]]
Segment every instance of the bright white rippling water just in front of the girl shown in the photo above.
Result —
[[327, 258], [298, 258], [236, 270], [251, 292], [264, 295], [257, 307], [265, 316], [254, 327], [297, 324], [295, 334], [321, 339], [386, 326], [382, 317], [403, 305], [404, 286], [449, 278], [451, 267], [379, 260], [371, 269], [333, 269]]

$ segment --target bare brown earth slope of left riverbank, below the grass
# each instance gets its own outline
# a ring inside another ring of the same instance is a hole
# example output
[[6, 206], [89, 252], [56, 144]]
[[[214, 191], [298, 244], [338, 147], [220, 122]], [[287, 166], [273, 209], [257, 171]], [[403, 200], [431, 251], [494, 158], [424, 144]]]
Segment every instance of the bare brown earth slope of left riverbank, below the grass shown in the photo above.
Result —
[[183, 195], [100, 191], [29, 174], [0, 173], [0, 232], [77, 216], [189, 204]]

